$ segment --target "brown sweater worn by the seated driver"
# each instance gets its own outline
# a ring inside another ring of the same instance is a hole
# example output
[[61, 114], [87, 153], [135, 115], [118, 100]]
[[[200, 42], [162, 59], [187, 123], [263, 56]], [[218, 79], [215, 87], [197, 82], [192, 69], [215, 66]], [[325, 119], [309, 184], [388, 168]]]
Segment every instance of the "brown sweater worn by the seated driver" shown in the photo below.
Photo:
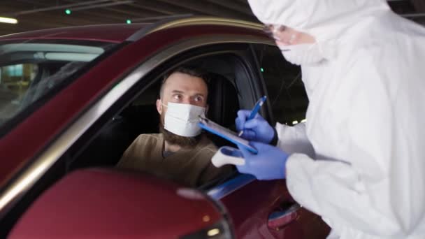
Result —
[[161, 133], [141, 134], [124, 152], [117, 167], [145, 171], [187, 187], [197, 187], [232, 171], [231, 166], [216, 168], [211, 164], [217, 147], [205, 136], [193, 149], [181, 149], [165, 158], [163, 149]]

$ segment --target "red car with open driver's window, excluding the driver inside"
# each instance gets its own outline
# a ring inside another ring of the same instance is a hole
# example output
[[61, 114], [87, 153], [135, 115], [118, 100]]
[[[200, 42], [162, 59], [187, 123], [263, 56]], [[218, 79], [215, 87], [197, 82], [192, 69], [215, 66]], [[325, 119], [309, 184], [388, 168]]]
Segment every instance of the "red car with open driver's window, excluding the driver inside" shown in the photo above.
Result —
[[208, 116], [230, 129], [263, 95], [271, 124], [305, 117], [300, 69], [259, 24], [189, 17], [0, 37], [0, 237], [325, 238], [284, 180], [235, 169], [192, 189], [114, 168], [138, 134], [158, 132], [159, 82], [182, 64], [210, 73]]

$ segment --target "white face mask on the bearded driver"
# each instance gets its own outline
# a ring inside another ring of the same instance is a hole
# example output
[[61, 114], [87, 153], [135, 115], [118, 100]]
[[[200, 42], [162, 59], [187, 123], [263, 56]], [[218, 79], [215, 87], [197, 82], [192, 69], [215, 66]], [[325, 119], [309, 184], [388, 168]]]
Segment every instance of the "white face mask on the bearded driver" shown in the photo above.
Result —
[[201, 133], [201, 127], [198, 125], [199, 115], [205, 116], [206, 108], [171, 102], [168, 102], [166, 107], [164, 129], [185, 137], [194, 137]]

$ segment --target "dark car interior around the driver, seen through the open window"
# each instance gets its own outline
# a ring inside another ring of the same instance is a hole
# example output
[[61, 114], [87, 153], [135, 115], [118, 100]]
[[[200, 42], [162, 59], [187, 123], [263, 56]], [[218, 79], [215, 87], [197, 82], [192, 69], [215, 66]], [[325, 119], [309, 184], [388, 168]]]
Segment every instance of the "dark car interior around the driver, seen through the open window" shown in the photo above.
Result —
[[[227, 58], [227, 59], [226, 59]], [[236, 78], [235, 62], [232, 64], [227, 56], [209, 56], [202, 59], [191, 60], [182, 64], [183, 66], [201, 68], [207, 72], [208, 78], [208, 113], [207, 117], [212, 121], [225, 126], [233, 131], [235, 118], [240, 108], [242, 99]], [[178, 67], [180, 66], [174, 66]], [[161, 79], [166, 73], [157, 75], [150, 87], [134, 97], [120, 113], [108, 120], [108, 123], [100, 129], [89, 144], [74, 151], [72, 160], [67, 161], [66, 171], [76, 168], [87, 168], [93, 166], [115, 166], [122, 157], [124, 151], [131, 145], [134, 139], [141, 133], [159, 133], [159, 113], [155, 102], [159, 95]], [[245, 76], [244, 76], [245, 77]], [[217, 147], [232, 145], [228, 140], [205, 132]], [[233, 145], [233, 147], [236, 147]], [[237, 175], [236, 168], [229, 177], [208, 182], [201, 185], [200, 189], [208, 189]]]

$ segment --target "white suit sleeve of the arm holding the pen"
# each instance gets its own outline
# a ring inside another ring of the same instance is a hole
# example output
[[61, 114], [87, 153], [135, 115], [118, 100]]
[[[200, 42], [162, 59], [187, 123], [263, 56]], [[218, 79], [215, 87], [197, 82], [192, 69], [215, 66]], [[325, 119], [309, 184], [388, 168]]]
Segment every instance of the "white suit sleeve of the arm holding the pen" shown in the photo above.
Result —
[[276, 132], [278, 132], [278, 147], [284, 152], [292, 154], [301, 152], [309, 157], [314, 157], [315, 150], [305, 134], [305, 124], [300, 123], [295, 126], [287, 126], [285, 124], [276, 124]]

